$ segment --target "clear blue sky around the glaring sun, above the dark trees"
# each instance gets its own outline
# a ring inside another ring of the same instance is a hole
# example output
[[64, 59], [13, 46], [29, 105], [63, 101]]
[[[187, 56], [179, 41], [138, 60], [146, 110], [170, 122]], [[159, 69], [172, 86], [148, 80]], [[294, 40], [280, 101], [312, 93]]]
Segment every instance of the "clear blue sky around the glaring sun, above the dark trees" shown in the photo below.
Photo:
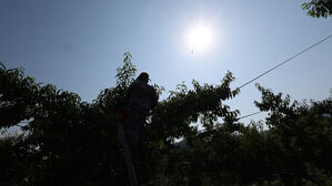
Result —
[[[129, 51], [138, 73], [167, 91], [194, 79], [219, 84], [231, 71], [235, 89], [332, 34], [332, 18], [311, 18], [303, 0], [1, 0], [0, 61], [24, 68], [37, 82], [92, 102], [114, 86]], [[211, 31], [204, 50], [189, 45], [195, 25]], [[332, 93], [332, 39], [256, 80], [293, 100], [321, 101]], [[259, 111], [251, 83], [225, 102], [241, 115]], [[167, 93], [161, 97], [164, 99]], [[243, 120], [263, 120], [258, 114]]]

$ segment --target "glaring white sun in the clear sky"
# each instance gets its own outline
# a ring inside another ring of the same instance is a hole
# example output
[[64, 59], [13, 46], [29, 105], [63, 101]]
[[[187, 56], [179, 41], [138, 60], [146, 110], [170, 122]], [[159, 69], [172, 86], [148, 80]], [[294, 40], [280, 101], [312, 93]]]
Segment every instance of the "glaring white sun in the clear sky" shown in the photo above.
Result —
[[210, 27], [200, 24], [190, 28], [187, 37], [191, 52], [205, 51], [212, 44], [213, 32]]

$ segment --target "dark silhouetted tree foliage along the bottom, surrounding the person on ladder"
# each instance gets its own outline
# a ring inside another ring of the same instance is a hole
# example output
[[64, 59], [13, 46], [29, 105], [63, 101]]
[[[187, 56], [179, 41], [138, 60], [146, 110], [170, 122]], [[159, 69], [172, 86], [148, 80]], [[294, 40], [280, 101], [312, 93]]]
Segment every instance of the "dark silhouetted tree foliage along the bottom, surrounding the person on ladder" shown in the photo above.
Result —
[[[0, 127], [24, 133], [0, 140], [0, 184], [128, 185], [114, 114], [125, 107], [135, 71], [125, 53], [117, 85], [85, 103], [1, 63]], [[255, 104], [269, 112], [268, 128], [244, 125], [224, 104], [240, 93], [230, 89], [233, 80], [228, 72], [218, 85], [179, 84], [151, 112], [149, 176], [155, 185], [331, 185], [332, 100], [291, 102], [258, 85], [262, 100]], [[139, 179], [143, 172], [138, 168]]]

